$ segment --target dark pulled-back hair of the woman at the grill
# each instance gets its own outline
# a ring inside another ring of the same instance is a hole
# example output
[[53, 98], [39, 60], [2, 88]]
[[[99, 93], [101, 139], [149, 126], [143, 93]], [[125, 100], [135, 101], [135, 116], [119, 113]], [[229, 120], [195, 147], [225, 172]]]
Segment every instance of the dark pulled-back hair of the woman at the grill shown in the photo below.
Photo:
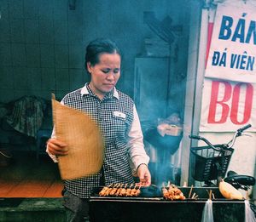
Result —
[[119, 54], [121, 56], [119, 48], [112, 40], [108, 38], [97, 38], [91, 41], [86, 47], [85, 68], [87, 69], [88, 62], [91, 65], [96, 65], [99, 62], [100, 55], [104, 53]]

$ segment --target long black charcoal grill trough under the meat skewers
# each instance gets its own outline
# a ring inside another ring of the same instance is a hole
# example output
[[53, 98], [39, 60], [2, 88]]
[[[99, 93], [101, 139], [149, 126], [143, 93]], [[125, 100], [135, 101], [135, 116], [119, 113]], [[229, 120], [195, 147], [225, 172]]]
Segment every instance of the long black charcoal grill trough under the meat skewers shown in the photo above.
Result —
[[[184, 196], [189, 196], [190, 187], [179, 187]], [[198, 199], [167, 201], [161, 196], [160, 189], [143, 188], [140, 196], [99, 196], [102, 187], [90, 196], [90, 221], [92, 222], [159, 222], [159, 221], [201, 221], [201, 215], [208, 192], [212, 190], [214, 221], [244, 221], [244, 201], [226, 200], [217, 187], [194, 187]]]

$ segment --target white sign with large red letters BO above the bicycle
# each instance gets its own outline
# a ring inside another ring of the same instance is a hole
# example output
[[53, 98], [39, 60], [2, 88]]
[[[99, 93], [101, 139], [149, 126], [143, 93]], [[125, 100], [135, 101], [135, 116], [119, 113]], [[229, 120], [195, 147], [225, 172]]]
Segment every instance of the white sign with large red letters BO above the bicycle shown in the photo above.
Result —
[[247, 124], [256, 131], [256, 84], [205, 78], [201, 132], [232, 132]]

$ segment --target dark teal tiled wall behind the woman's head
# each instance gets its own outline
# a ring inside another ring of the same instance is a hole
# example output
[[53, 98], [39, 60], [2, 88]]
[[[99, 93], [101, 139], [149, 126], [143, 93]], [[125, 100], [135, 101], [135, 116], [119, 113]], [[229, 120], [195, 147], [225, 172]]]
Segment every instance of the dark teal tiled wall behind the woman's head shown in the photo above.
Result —
[[169, 15], [173, 25], [186, 20], [177, 10], [182, 4], [167, 0], [75, 2], [70, 10], [68, 0], [0, 0], [0, 102], [51, 93], [61, 99], [83, 86], [84, 47], [96, 37], [113, 38], [125, 52], [119, 87], [132, 96], [134, 58], [143, 39], [154, 37], [143, 11], [160, 20]]

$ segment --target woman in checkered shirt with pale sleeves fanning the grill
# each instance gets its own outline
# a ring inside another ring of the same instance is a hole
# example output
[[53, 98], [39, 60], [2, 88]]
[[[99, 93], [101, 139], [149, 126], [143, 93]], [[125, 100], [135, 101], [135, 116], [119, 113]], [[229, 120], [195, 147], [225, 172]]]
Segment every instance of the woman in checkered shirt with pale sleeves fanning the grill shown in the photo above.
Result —
[[[94, 187], [134, 183], [133, 173], [142, 185], [151, 183], [149, 157], [134, 102], [115, 88], [120, 77], [119, 48], [109, 39], [96, 39], [86, 48], [85, 65], [90, 83], [67, 94], [61, 103], [86, 111], [96, 120], [104, 138], [105, 158], [99, 174], [64, 182], [68, 221], [88, 218], [88, 197]], [[67, 145], [51, 138], [47, 152], [53, 158], [67, 155]]]

